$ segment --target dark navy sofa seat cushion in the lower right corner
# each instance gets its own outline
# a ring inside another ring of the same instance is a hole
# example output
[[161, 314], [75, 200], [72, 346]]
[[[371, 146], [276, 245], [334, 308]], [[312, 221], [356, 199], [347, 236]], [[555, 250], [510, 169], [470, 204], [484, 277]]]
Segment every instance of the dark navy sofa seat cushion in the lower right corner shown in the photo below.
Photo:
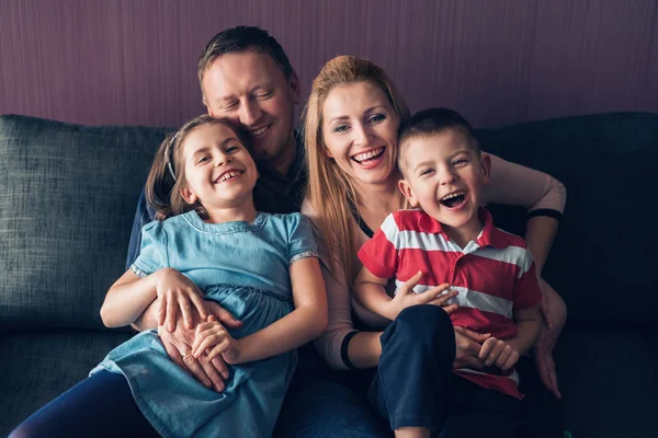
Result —
[[556, 360], [565, 427], [575, 437], [656, 436], [655, 326], [567, 331]]

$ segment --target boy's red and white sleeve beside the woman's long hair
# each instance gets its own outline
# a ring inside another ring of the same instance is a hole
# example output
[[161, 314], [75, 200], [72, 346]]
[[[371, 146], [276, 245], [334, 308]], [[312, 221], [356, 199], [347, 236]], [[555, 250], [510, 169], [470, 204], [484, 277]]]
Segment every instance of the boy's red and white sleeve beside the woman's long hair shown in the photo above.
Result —
[[390, 214], [375, 235], [359, 250], [359, 260], [374, 276], [390, 278], [397, 272], [399, 233], [395, 214]]

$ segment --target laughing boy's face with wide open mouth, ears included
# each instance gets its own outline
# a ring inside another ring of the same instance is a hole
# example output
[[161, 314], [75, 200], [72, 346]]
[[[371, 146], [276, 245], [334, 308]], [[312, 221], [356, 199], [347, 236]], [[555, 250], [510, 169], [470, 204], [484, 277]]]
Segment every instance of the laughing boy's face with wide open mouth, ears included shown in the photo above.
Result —
[[489, 181], [490, 159], [478, 157], [467, 137], [454, 129], [410, 138], [400, 145], [405, 180], [399, 188], [443, 226], [479, 224], [480, 188]]

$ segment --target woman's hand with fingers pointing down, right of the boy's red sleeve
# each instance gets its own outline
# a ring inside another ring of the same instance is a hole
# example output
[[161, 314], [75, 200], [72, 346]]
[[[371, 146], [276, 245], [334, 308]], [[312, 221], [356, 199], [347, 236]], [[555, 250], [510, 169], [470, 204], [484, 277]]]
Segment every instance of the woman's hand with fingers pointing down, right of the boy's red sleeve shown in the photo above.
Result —
[[[557, 336], [567, 321], [567, 307], [551, 285], [541, 277], [538, 280], [543, 295], [540, 310], [544, 316], [544, 324], [542, 324], [540, 338], [534, 347], [535, 362], [542, 382], [553, 392], [556, 399], [561, 399], [557, 385], [553, 348], [555, 348]], [[547, 311], [544, 311], [544, 309], [547, 309]]]

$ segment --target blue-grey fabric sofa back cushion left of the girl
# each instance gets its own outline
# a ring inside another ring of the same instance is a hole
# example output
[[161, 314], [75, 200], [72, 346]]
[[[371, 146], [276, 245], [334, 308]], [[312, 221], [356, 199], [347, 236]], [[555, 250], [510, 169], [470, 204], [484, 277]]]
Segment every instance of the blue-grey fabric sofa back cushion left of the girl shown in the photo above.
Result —
[[101, 326], [166, 132], [0, 117], [0, 326]]

